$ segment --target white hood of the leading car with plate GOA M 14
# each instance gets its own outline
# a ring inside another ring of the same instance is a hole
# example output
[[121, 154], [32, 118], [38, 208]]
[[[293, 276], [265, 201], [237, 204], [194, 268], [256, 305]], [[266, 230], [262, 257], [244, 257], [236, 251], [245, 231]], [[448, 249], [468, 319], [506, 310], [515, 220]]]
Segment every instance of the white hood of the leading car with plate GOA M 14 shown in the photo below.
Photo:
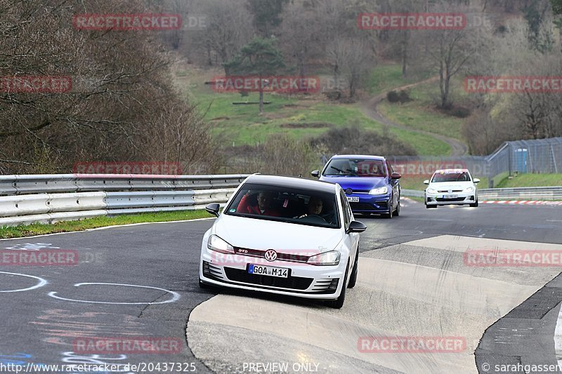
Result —
[[342, 239], [341, 229], [225, 214], [216, 220], [211, 234], [235, 247], [307, 251], [311, 254], [332, 251]]

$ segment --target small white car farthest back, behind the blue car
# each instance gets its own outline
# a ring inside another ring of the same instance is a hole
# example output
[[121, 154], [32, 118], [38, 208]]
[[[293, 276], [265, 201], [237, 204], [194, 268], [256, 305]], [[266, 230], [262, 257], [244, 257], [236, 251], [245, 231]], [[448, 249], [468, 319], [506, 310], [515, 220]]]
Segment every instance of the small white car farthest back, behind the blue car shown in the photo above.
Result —
[[424, 180], [428, 185], [425, 190], [426, 208], [439, 205], [478, 206], [478, 178], [472, 178], [468, 169], [443, 169], [431, 175], [431, 180]]

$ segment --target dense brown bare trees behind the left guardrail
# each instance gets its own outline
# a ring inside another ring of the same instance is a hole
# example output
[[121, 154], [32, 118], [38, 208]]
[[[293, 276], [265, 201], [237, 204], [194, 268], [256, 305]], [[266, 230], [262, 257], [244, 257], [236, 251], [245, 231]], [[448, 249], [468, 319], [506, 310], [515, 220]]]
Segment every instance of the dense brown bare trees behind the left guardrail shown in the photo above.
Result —
[[[183, 131], [199, 126], [196, 109], [174, 91], [171, 58], [153, 32], [72, 27], [75, 14], [147, 13], [142, 4], [39, 0], [0, 6], [0, 76], [65, 76], [73, 83], [63, 92], [0, 93], [0, 163], [12, 173], [68, 171], [75, 161], [161, 161], [166, 153], [147, 144], [162, 113], [185, 114], [169, 116]], [[204, 154], [211, 145], [203, 138], [185, 147]]]

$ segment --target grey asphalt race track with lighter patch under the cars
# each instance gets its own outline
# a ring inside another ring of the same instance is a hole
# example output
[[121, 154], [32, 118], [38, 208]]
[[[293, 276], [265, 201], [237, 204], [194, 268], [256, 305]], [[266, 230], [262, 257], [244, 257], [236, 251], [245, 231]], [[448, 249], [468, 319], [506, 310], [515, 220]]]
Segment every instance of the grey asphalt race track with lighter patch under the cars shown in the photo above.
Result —
[[[184, 373], [499, 373], [495, 363], [556, 363], [562, 281], [549, 281], [561, 269], [469, 267], [463, 252], [558, 251], [562, 207], [404, 205], [392, 220], [358, 217], [368, 226], [358, 285], [340, 310], [200, 289], [201, 238], [213, 220], [0, 241], [3, 251], [63, 249], [79, 258], [77, 265], [0, 267], [0, 364], [161, 363], [161, 370], [108, 373], [164, 373], [164, 362], [176, 369], [182, 363]], [[526, 328], [523, 338], [518, 328]], [[361, 352], [365, 336], [458, 337], [466, 347]], [[85, 352], [77, 343], [117, 337], [168, 338], [181, 346], [176, 352]], [[0, 371], [10, 372], [1, 365]], [[46, 372], [55, 371], [28, 371]]]

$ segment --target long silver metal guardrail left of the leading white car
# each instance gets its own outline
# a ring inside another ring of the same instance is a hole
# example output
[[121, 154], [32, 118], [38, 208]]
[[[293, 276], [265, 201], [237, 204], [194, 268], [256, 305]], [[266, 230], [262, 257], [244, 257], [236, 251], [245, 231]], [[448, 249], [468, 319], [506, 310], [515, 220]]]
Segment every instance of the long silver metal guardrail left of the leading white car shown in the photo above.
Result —
[[248, 175], [45, 174], [0, 176], [0, 226], [226, 203]]

